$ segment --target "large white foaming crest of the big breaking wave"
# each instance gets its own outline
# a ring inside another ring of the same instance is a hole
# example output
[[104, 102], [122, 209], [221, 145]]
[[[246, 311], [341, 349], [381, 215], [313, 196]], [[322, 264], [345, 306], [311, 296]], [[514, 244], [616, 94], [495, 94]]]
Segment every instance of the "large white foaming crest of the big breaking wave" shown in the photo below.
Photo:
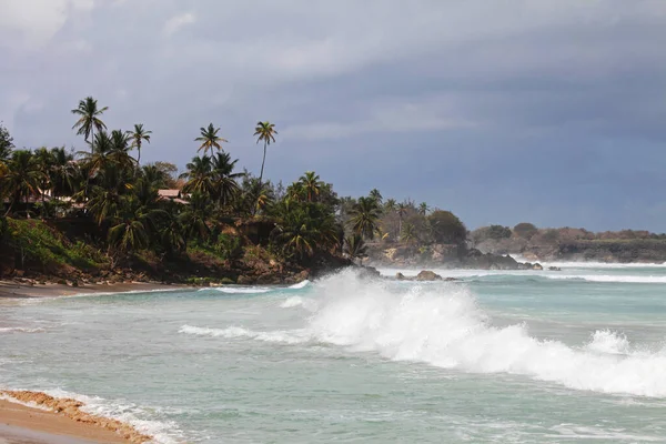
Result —
[[460, 285], [395, 292], [343, 273], [320, 287], [324, 301], [309, 321], [310, 334], [319, 341], [464, 372], [504, 372], [576, 390], [666, 396], [666, 352], [632, 350], [628, 341], [608, 332], [596, 333], [588, 349], [578, 349], [539, 341], [523, 324], [494, 327]]

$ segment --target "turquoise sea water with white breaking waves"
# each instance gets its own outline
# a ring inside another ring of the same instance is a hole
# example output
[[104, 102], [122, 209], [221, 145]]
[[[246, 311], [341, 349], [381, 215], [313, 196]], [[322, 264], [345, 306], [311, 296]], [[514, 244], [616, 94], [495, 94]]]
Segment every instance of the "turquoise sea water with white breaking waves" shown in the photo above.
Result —
[[0, 386], [163, 443], [666, 442], [666, 268], [561, 266], [3, 301]]

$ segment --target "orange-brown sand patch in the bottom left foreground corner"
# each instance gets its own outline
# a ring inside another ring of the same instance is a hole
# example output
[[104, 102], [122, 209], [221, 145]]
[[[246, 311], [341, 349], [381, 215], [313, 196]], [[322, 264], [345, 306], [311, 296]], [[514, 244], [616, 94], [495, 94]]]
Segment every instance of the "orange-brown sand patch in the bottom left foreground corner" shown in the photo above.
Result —
[[0, 443], [98, 444], [152, 441], [118, 420], [85, 413], [84, 404], [42, 392], [0, 391]]

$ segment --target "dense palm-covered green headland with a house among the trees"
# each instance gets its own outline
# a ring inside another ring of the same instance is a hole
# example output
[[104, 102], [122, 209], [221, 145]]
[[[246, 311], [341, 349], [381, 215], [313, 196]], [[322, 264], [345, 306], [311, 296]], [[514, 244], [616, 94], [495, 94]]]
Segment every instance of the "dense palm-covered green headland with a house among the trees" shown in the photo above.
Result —
[[254, 128], [263, 144], [259, 176], [239, 171], [213, 123], [200, 128], [196, 155], [176, 176], [173, 164], [141, 164], [152, 135], [142, 123], [108, 130], [103, 118], [110, 110], [91, 97], [71, 112], [72, 129], [87, 144], [77, 152], [14, 150], [0, 125], [0, 274], [139, 269], [161, 276], [194, 272], [200, 280], [235, 281], [255, 273], [268, 280], [283, 270], [362, 261], [373, 244], [465, 242], [462, 222], [451, 212], [431, 212], [425, 202], [384, 201], [377, 189], [339, 198], [314, 171], [286, 186], [264, 180], [268, 147], [278, 135], [269, 121]]

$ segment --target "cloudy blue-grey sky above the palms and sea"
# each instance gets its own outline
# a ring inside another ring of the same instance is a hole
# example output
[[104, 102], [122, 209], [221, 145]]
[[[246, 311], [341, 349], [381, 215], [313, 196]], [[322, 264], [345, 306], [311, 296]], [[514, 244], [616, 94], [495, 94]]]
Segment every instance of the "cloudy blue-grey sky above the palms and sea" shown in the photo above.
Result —
[[70, 110], [153, 131], [181, 169], [199, 128], [258, 173], [491, 223], [666, 231], [666, 1], [0, 0], [0, 120], [84, 148]]

